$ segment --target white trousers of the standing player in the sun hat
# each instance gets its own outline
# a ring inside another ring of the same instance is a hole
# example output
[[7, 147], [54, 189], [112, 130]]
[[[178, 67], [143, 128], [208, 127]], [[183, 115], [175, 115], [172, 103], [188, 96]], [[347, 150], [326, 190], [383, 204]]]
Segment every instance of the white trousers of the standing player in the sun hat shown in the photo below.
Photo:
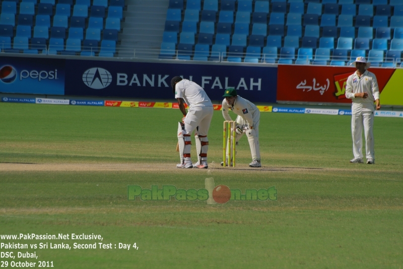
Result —
[[374, 105], [353, 103], [351, 106], [351, 133], [354, 158], [362, 159], [362, 130], [364, 127], [366, 158], [375, 160], [374, 154]]

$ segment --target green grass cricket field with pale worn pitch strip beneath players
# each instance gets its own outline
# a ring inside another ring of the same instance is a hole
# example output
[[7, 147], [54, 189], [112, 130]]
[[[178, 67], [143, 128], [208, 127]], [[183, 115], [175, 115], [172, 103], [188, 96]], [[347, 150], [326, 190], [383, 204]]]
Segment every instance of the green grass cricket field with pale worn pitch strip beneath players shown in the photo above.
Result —
[[[0, 234], [103, 238], [3, 239], [29, 249], [1, 252], [36, 252], [38, 259], [0, 262], [53, 261], [54, 268], [403, 265], [401, 118], [375, 118], [376, 164], [367, 165], [349, 163], [350, 116], [261, 113], [263, 167], [248, 167], [243, 137], [237, 167], [224, 169], [223, 117], [215, 111], [209, 169], [201, 170], [175, 169], [180, 119], [175, 109], [0, 103]], [[194, 143], [192, 156], [195, 162]], [[277, 200], [127, 200], [127, 185], [200, 189], [211, 177], [242, 192], [275, 186]], [[71, 250], [50, 249], [50, 243]], [[74, 249], [74, 243], [96, 243], [97, 249]], [[119, 243], [131, 247], [119, 249]]]

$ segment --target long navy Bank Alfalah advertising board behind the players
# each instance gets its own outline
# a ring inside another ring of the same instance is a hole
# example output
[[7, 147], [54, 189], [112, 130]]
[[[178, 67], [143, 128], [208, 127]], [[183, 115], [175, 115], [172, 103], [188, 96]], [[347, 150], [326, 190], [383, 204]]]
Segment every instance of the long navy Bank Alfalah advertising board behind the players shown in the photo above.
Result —
[[65, 95], [174, 99], [171, 79], [181, 76], [222, 101], [226, 88], [252, 102], [276, 102], [277, 67], [66, 60]]

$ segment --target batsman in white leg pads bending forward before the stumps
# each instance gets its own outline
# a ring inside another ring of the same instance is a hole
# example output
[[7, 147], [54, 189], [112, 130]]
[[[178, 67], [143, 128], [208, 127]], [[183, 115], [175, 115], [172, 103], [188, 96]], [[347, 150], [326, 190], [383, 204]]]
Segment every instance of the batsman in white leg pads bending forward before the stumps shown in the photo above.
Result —
[[[196, 83], [174, 77], [171, 80], [172, 92], [178, 100], [179, 109], [183, 113], [182, 122], [178, 127], [178, 143], [180, 164], [177, 168], [208, 168], [207, 151], [209, 150], [210, 122], [213, 117], [213, 104], [205, 90]], [[188, 105], [186, 113], [184, 102]], [[196, 142], [197, 163], [192, 165], [190, 159], [190, 135], [194, 130]]]

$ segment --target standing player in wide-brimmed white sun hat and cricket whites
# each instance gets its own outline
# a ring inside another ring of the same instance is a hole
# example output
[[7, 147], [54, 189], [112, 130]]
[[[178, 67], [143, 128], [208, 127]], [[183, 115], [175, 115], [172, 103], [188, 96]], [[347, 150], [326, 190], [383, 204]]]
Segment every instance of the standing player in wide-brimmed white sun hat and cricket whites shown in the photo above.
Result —
[[[375, 163], [374, 155], [374, 110], [381, 108], [378, 82], [373, 73], [367, 71], [370, 62], [357, 57], [352, 63], [357, 71], [349, 76], [346, 84], [346, 98], [352, 99], [351, 132], [353, 137], [354, 159], [350, 163], [363, 163], [362, 130], [364, 127], [367, 164]], [[374, 108], [375, 102], [375, 108]]]

